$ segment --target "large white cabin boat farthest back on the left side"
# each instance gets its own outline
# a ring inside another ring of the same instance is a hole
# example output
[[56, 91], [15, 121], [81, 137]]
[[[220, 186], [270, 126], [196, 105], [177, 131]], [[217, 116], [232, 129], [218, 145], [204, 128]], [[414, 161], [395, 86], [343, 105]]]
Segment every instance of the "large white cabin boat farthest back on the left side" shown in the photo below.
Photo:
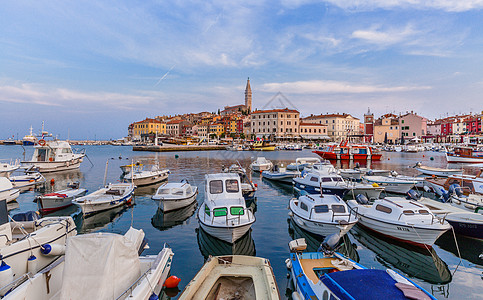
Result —
[[85, 151], [72, 151], [67, 141], [41, 139], [34, 146], [32, 158], [22, 164], [41, 173], [58, 172], [78, 169], [85, 156]]

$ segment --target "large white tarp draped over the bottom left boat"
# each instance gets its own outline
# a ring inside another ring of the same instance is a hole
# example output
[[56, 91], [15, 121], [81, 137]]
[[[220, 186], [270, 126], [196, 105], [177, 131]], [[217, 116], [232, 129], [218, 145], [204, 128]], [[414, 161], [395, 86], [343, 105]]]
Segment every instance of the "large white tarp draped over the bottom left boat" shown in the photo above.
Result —
[[140, 276], [135, 242], [113, 233], [69, 237], [61, 299], [116, 299]]

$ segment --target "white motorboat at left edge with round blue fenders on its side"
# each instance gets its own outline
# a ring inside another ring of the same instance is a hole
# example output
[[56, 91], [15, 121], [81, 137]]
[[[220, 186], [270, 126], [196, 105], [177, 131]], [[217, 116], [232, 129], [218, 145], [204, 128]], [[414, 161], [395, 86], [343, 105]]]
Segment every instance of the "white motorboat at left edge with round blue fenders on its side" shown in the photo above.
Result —
[[67, 237], [77, 231], [70, 216], [39, 219], [37, 213], [30, 211], [10, 218], [5, 201], [0, 201], [0, 216], [0, 296], [3, 296], [24, 274], [35, 274], [62, 255]]

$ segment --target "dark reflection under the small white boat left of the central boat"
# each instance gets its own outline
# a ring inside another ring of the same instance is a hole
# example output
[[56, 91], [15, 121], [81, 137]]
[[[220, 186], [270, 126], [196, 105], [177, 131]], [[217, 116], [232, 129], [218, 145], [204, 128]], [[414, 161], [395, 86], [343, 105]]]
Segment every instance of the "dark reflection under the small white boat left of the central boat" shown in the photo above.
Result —
[[188, 224], [188, 219], [195, 213], [197, 206], [198, 202], [194, 201], [186, 207], [168, 212], [164, 212], [158, 207], [156, 214], [151, 218], [151, 224], [161, 231], [177, 225]]

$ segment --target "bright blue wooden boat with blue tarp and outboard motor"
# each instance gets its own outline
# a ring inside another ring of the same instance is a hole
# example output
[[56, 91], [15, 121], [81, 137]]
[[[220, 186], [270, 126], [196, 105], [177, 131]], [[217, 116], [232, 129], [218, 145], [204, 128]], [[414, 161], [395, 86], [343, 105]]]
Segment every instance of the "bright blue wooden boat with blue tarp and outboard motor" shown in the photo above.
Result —
[[307, 247], [304, 239], [291, 241], [289, 247], [292, 253], [285, 262], [294, 286], [292, 299], [408, 299], [411, 296], [436, 300], [403, 275], [390, 269], [367, 269], [335, 252], [327, 242], [321, 247], [324, 252], [302, 252]]

